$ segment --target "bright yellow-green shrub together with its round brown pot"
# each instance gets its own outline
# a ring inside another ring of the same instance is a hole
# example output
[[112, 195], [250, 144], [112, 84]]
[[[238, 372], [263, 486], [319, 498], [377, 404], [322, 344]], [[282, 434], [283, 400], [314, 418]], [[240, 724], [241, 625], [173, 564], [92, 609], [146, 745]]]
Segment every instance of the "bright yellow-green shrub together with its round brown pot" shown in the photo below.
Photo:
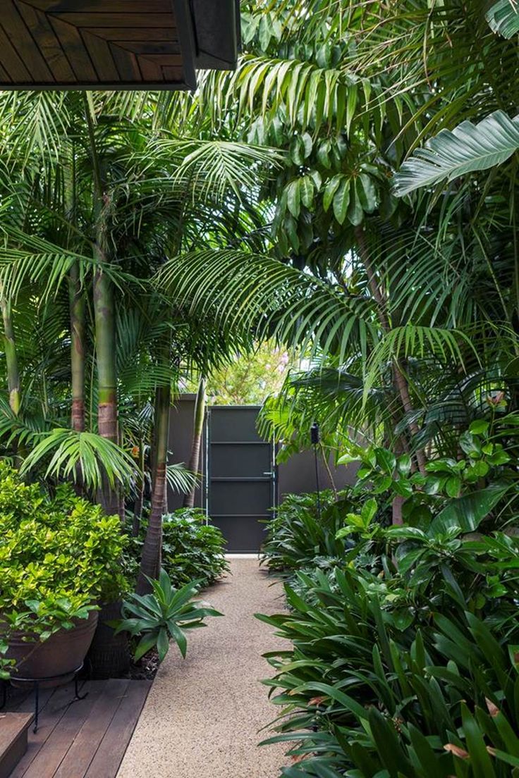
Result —
[[0, 642], [12, 682], [66, 682], [92, 642], [97, 603], [120, 593], [119, 517], [75, 496], [50, 497], [0, 463]]

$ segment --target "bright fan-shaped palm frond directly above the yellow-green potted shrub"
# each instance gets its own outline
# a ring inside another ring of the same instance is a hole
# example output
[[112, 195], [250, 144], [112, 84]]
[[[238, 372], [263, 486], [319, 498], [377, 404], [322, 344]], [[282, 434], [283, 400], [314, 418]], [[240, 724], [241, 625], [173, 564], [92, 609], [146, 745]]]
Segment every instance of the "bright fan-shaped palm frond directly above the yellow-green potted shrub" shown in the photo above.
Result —
[[73, 478], [81, 475], [89, 489], [100, 489], [104, 475], [112, 488], [126, 485], [135, 476], [135, 463], [117, 443], [96, 433], [76, 432], [73, 429], [53, 429], [39, 436], [33, 450], [23, 461], [20, 472], [33, 470], [51, 457], [45, 478]]

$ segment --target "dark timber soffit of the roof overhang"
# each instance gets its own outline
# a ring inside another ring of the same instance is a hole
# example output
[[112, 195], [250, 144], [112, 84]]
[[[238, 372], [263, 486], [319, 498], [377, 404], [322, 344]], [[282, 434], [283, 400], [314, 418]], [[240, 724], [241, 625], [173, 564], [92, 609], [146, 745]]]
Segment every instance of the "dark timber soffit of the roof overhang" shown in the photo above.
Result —
[[0, 0], [0, 89], [194, 89], [239, 29], [237, 0]]

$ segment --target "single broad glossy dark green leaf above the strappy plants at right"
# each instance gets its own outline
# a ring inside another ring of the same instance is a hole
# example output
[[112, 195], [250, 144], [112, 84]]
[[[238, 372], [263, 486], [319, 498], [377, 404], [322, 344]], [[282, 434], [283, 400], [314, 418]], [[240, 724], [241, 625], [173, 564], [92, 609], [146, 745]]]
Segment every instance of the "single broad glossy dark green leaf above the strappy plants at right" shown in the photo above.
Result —
[[460, 527], [463, 532], [473, 532], [509, 488], [503, 485], [488, 486], [451, 500], [431, 521], [427, 534], [443, 534], [452, 527]]

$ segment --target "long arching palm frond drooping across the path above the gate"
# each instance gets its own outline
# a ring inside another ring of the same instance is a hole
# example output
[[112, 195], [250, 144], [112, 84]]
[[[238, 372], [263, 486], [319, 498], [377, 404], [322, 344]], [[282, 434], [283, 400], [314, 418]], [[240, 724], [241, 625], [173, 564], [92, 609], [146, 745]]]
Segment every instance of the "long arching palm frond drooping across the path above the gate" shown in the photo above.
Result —
[[258, 254], [185, 254], [165, 263], [156, 283], [191, 316], [215, 322], [229, 342], [252, 330], [302, 349], [335, 352], [343, 362], [349, 345], [366, 354], [377, 341], [370, 298]]

